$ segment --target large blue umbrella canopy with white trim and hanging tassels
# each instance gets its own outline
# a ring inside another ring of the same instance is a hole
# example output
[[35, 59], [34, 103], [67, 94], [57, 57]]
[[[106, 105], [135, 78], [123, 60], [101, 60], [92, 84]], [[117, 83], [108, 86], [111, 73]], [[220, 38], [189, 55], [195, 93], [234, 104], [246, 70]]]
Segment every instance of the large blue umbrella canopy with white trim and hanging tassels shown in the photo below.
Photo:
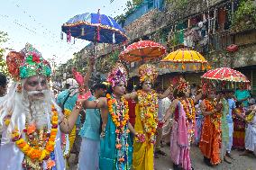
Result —
[[100, 13], [83, 13], [64, 23], [62, 31], [71, 36], [99, 43], [119, 44], [127, 40], [123, 28], [110, 16]]

